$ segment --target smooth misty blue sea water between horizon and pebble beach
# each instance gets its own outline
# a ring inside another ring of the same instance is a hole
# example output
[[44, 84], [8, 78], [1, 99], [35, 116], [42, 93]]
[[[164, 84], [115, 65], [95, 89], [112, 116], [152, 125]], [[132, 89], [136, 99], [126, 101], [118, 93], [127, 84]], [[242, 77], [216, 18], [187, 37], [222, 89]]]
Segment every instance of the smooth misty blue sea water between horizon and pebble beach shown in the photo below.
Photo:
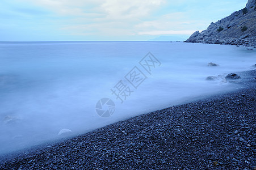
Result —
[[[161, 62], [150, 73], [139, 63], [149, 52]], [[0, 154], [57, 139], [61, 129], [86, 133], [242, 88], [205, 78], [253, 69], [255, 56], [245, 47], [169, 41], [0, 42]], [[134, 67], [144, 74], [137, 87], [125, 78]], [[130, 90], [123, 102], [111, 91], [120, 80]], [[105, 118], [95, 111], [104, 97], [115, 103]]]

